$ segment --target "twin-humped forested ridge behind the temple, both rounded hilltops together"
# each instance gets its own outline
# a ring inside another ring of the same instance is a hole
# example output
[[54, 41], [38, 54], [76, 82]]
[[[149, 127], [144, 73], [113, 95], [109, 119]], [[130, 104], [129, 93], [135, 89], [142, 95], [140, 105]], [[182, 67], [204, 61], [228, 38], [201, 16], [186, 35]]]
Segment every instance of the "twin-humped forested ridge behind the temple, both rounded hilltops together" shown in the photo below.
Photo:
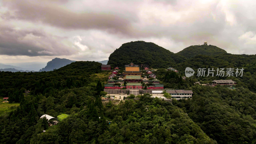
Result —
[[110, 54], [108, 64], [112, 67], [124, 68], [133, 62], [150, 68], [168, 68], [197, 55], [215, 56], [227, 53], [213, 45], [193, 45], [178, 53], [170, 52], [154, 43], [135, 41], [122, 44]]

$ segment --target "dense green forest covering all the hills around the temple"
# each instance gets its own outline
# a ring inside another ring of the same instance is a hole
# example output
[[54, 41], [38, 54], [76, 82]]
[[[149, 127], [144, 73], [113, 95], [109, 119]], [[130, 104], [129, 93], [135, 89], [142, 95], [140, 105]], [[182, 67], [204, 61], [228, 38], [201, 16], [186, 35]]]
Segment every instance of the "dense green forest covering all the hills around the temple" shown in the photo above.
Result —
[[[256, 143], [256, 56], [189, 51], [193, 57], [183, 51], [175, 58], [156, 44], [138, 41], [123, 44], [110, 56], [112, 67], [132, 61], [157, 68], [154, 73], [164, 88], [194, 93], [192, 99], [172, 102], [144, 94], [102, 103], [111, 72], [101, 71], [99, 62], [76, 61], [49, 72], [0, 72], [0, 98], [9, 97], [9, 103], [0, 104], [0, 143]], [[179, 73], [166, 71], [170, 66]], [[184, 80], [186, 67], [244, 68], [244, 75]], [[236, 89], [194, 84], [215, 79], [232, 79]], [[44, 114], [69, 116], [48, 127], [40, 119]]]

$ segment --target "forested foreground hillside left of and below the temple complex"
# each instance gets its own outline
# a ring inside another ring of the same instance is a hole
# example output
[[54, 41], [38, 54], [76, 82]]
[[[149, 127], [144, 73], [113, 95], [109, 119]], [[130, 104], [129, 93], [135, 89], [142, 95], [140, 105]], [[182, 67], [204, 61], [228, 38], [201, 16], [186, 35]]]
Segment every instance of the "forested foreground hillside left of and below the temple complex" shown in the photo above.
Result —
[[[10, 106], [20, 103], [18, 108], [0, 115], [0, 142], [214, 142], [182, 109], [149, 94], [136, 101], [103, 105], [98, 95], [102, 91], [98, 80], [106, 81], [109, 72], [100, 71], [100, 65], [77, 61], [49, 72], [0, 72], [1, 97], [8, 96]], [[24, 95], [25, 89], [30, 94]], [[52, 127], [39, 118], [63, 113], [69, 116]], [[107, 119], [112, 123], [108, 125]]]

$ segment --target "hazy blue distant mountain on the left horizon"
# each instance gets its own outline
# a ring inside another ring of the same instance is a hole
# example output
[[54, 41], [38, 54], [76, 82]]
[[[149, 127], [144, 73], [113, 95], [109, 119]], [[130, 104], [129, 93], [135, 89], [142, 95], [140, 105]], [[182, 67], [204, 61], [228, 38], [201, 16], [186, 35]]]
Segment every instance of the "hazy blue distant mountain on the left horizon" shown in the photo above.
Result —
[[51, 61], [47, 62], [47, 65], [40, 69], [39, 72], [42, 71], [52, 71], [54, 69], [59, 69], [61, 67], [64, 67], [72, 62], [76, 62], [75, 60], [68, 60], [68, 59], [60, 59], [60, 58], [55, 58], [52, 59]]

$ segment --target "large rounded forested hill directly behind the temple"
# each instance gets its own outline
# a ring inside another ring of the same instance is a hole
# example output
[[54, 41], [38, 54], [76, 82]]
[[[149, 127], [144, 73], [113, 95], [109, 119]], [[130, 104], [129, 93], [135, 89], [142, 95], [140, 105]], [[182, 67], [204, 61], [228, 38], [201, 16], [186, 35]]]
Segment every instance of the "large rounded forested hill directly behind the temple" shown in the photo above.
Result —
[[183, 57], [154, 43], [136, 41], [122, 44], [108, 59], [112, 67], [124, 68], [124, 65], [133, 62], [151, 68], [165, 68], [175, 64], [175, 61], [181, 62]]

